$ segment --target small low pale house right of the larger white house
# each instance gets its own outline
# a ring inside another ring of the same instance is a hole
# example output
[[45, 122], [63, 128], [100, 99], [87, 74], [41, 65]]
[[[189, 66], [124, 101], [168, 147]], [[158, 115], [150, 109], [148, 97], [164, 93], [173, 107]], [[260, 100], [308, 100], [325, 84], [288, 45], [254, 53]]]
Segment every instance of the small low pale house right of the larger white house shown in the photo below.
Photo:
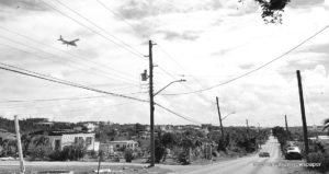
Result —
[[138, 142], [134, 140], [124, 140], [124, 141], [109, 141], [106, 143], [100, 144], [100, 150], [104, 153], [113, 153], [121, 149], [132, 149], [135, 150], [138, 147]]

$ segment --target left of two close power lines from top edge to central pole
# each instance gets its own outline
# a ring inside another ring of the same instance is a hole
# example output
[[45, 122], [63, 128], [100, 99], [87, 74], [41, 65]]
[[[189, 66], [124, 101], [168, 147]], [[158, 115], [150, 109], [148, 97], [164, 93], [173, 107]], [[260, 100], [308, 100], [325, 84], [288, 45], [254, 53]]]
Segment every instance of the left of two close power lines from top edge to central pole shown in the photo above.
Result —
[[[144, 59], [144, 55], [143, 55], [143, 54], [140, 54], [140, 53], [135, 53], [135, 51], [133, 51], [132, 49], [128, 49], [127, 47], [125, 47], [125, 46], [118, 44], [117, 42], [115, 42], [115, 40], [113, 40], [113, 39], [106, 37], [105, 35], [103, 35], [103, 34], [97, 32], [95, 30], [89, 27], [88, 25], [84, 25], [83, 23], [81, 23], [81, 22], [79, 22], [78, 20], [76, 20], [76, 19], [69, 16], [68, 14], [65, 14], [64, 12], [61, 12], [60, 10], [58, 10], [58, 9], [56, 9], [55, 7], [50, 5], [49, 3], [45, 2], [44, 0], [41, 0], [41, 1], [42, 1], [44, 4], [46, 4], [47, 7], [49, 7], [50, 9], [53, 9], [53, 10], [57, 11], [58, 13], [60, 13], [61, 15], [64, 15], [64, 16], [70, 19], [71, 21], [76, 22], [77, 24], [79, 24], [79, 25], [81, 25], [81, 26], [88, 28], [88, 30], [91, 31], [92, 33], [94, 33], [94, 34], [97, 34], [97, 35], [99, 35], [99, 36], [105, 38], [106, 40], [109, 40], [109, 42], [115, 44], [116, 46], [118, 46], [118, 47], [121, 47], [121, 48], [123, 48], [123, 49], [126, 49], [127, 51], [132, 53], [133, 55], [137, 56], [138, 58], [141, 58], [143, 60], [146, 60], [146, 59]], [[80, 16], [80, 15], [79, 15], [79, 16]], [[81, 16], [81, 18], [82, 18], [82, 16]], [[82, 18], [82, 19], [83, 19], [83, 18]], [[87, 21], [89, 21], [89, 20], [87, 20]], [[123, 43], [123, 42], [122, 42], [122, 43]]]

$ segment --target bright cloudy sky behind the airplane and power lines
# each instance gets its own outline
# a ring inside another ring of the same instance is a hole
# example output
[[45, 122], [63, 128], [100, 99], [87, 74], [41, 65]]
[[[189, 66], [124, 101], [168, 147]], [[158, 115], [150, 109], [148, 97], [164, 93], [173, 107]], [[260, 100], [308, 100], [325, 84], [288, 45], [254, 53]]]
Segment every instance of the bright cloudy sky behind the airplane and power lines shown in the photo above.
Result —
[[[218, 125], [217, 96], [222, 116], [228, 115], [224, 126], [246, 119], [284, 126], [284, 115], [300, 126], [296, 70], [307, 124], [321, 125], [329, 117], [328, 16], [329, 0], [292, 0], [282, 24], [265, 24], [253, 0], [1, 0], [0, 67], [147, 101], [140, 73], [148, 71], [152, 40], [155, 92], [186, 80], [155, 96], [175, 113], [156, 106], [157, 125]], [[77, 47], [60, 35], [79, 38]], [[0, 80], [2, 117], [149, 124], [147, 102], [3, 69]]]

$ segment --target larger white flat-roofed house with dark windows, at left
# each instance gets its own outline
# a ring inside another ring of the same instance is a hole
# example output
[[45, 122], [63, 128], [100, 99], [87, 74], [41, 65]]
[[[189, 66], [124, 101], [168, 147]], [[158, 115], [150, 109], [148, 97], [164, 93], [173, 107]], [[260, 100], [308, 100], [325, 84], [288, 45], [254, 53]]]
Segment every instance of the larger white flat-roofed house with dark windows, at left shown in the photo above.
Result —
[[[48, 148], [50, 150], [63, 150], [65, 147], [83, 143], [87, 151], [95, 149], [94, 144], [94, 134], [86, 132], [71, 129], [60, 129], [60, 130], [39, 130], [32, 135], [34, 137], [44, 136], [48, 140]], [[30, 147], [30, 148], [33, 148]], [[29, 148], [29, 149], [30, 149]]]

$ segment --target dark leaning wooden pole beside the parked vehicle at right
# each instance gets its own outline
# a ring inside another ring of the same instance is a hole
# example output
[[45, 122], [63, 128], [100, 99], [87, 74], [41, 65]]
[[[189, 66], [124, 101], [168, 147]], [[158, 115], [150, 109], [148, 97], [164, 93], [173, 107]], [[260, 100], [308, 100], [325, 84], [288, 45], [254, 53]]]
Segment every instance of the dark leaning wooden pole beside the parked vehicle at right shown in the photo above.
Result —
[[309, 151], [309, 148], [308, 148], [308, 134], [307, 134], [307, 124], [306, 124], [306, 116], [305, 116], [303, 85], [302, 85], [302, 78], [300, 78], [300, 71], [299, 70], [297, 70], [297, 80], [298, 80], [299, 102], [300, 102], [300, 112], [302, 112], [302, 120], [303, 120], [305, 154], [307, 156], [308, 151]]

